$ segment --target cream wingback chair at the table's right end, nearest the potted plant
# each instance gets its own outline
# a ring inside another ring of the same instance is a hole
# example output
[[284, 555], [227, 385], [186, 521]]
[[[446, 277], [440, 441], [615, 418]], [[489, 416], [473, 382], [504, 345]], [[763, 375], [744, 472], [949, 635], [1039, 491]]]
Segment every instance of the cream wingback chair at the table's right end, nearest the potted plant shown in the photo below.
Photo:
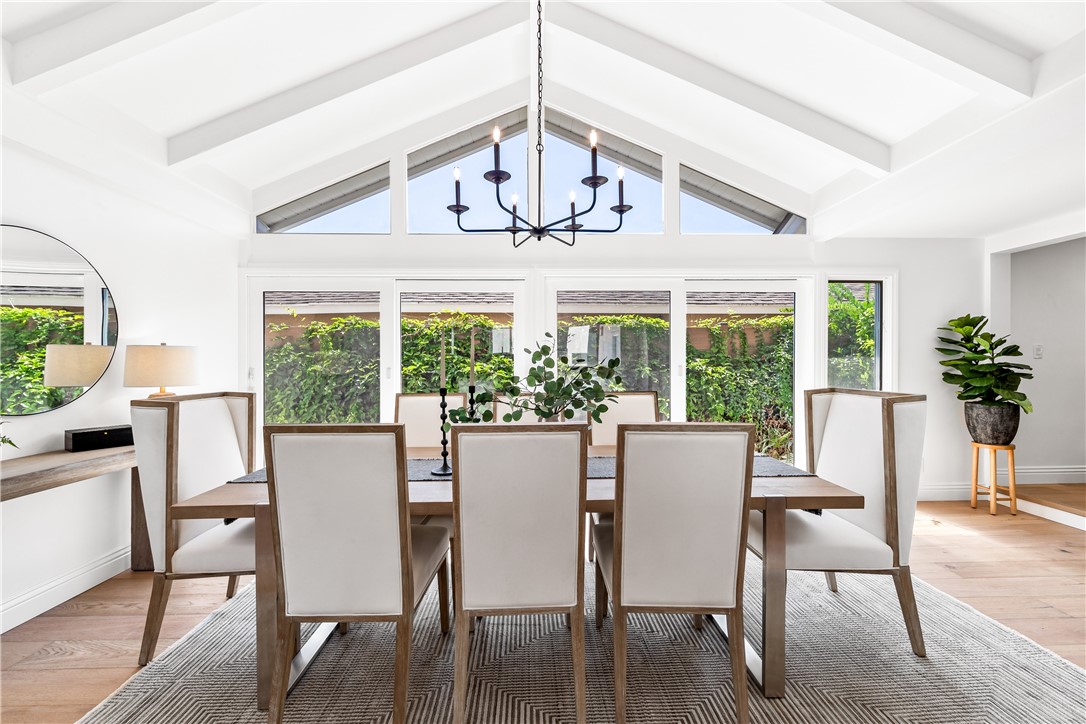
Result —
[[[912, 590], [909, 552], [924, 452], [926, 397], [897, 392], [808, 390], [807, 469], [863, 495], [863, 508], [812, 516], [788, 510], [785, 567], [894, 577], [912, 651], [926, 656]], [[749, 546], [763, 550], [762, 517], [750, 516]]]

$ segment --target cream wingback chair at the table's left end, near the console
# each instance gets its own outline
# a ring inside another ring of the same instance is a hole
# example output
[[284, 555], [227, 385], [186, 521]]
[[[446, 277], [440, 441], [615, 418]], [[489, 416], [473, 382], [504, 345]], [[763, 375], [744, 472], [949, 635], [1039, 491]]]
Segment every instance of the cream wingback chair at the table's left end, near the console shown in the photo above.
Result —
[[132, 442], [154, 561], [139, 663], [154, 658], [176, 579], [238, 576], [256, 567], [255, 523], [174, 520], [171, 507], [253, 470], [253, 394], [214, 392], [131, 401]]

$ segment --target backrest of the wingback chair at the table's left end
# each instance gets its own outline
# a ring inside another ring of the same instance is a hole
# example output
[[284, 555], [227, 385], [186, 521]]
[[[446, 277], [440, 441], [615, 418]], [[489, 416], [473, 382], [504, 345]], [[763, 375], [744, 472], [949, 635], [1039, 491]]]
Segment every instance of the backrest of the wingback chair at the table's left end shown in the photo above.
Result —
[[174, 521], [169, 507], [253, 469], [253, 393], [131, 401], [132, 442], [156, 571], [214, 520]]

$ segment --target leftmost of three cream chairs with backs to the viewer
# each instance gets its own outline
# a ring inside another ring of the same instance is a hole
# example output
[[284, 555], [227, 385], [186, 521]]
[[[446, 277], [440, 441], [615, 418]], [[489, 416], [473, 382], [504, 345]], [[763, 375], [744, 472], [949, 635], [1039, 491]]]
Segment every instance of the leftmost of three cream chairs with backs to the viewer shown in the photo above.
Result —
[[407, 716], [412, 618], [438, 579], [449, 631], [449, 531], [412, 525], [402, 424], [264, 428], [280, 625], [268, 721], [282, 719], [303, 621], [392, 621], [392, 721]]

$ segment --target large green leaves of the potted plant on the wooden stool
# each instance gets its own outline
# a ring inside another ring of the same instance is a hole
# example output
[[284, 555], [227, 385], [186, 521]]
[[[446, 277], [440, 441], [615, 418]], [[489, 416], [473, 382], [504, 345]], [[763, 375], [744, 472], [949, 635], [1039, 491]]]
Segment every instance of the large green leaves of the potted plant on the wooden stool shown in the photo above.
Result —
[[1022, 351], [1016, 344], [1007, 344], [1008, 338], [983, 331], [987, 323], [987, 317], [964, 315], [939, 327], [957, 335], [938, 338], [948, 346], [935, 347], [949, 357], [939, 361], [950, 368], [943, 372], [943, 381], [959, 388], [958, 399], [986, 406], [1018, 405], [1032, 412], [1033, 404], [1018, 389], [1022, 380], [1033, 379], [1028, 372], [1033, 368], [1006, 361], [1005, 357], [1021, 357]]

